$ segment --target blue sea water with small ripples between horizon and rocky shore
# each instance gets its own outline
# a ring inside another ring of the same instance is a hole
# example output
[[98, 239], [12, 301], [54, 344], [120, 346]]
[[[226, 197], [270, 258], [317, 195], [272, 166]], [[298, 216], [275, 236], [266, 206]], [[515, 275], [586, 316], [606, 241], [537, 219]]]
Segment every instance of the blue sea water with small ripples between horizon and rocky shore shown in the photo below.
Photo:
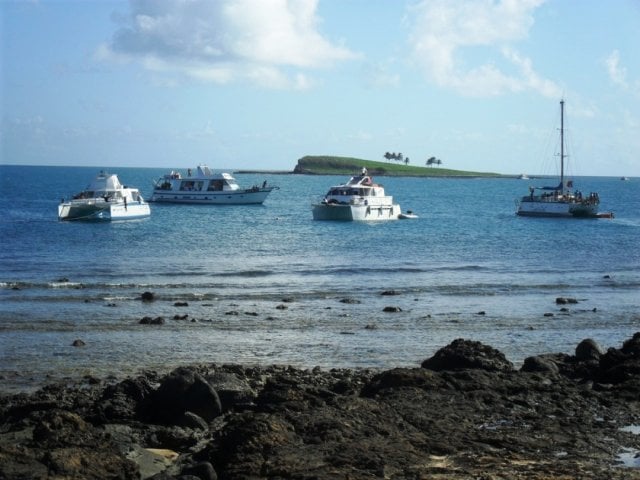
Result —
[[[344, 178], [238, 174], [280, 189], [260, 206], [152, 204], [142, 220], [58, 222], [60, 198], [98, 170], [0, 165], [3, 390], [204, 362], [415, 366], [456, 338], [518, 365], [640, 331], [636, 178], [576, 179], [614, 219], [517, 217], [536, 180], [376, 178], [419, 218], [315, 222], [312, 202]], [[110, 171], [147, 198], [166, 173]], [[556, 297], [578, 303], [562, 311]]]

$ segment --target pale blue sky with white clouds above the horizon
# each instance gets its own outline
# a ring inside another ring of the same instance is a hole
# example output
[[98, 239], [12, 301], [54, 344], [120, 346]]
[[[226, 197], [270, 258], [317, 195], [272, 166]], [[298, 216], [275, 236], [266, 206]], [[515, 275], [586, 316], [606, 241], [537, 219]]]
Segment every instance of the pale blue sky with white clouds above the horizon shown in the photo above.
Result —
[[0, 0], [0, 163], [640, 176], [640, 0]]

